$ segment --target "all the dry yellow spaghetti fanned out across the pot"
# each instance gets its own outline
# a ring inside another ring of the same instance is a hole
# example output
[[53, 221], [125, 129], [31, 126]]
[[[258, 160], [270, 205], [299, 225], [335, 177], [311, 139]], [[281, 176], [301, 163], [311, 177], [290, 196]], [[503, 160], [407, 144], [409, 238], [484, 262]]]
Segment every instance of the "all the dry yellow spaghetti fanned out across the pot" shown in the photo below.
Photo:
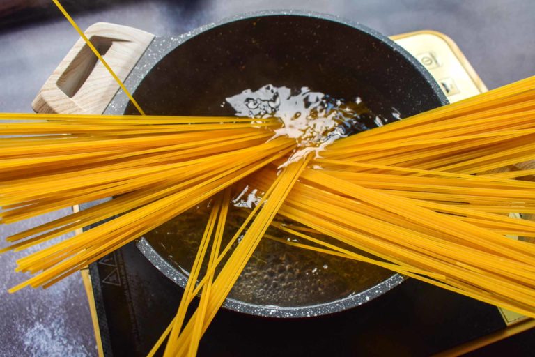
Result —
[[[22, 250], [108, 220], [17, 261], [17, 270], [38, 274], [13, 291], [47, 287], [212, 197], [183, 301], [156, 345], [169, 335], [166, 355], [195, 353], [270, 225], [302, 238], [290, 244], [535, 317], [535, 245], [511, 238], [534, 237], [535, 222], [510, 215], [535, 213], [535, 183], [517, 179], [535, 170], [496, 173], [534, 158], [534, 84], [525, 79], [339, 139], [284, 169], [297, 143], [272, 139], [276, 119], [1, 114], [12, 120], [0, 125], [8, 136], [0, 142], [3, 224], [115, 197], [8, 237], [6, 250]], [[222, 248], [231, 188], [242, 180], [265, 193]]]

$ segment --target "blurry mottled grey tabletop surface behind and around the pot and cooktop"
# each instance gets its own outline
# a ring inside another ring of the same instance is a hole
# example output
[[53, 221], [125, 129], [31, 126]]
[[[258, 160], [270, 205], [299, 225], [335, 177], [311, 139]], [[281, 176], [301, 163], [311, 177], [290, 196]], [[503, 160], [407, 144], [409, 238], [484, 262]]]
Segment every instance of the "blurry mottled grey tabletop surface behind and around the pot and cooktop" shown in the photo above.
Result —
[[[48, 0], [0, 1], [0, 111], [30, 112], [40, 86], [77, 40]], [[208, 22], [254, 10], [300, 9], [339, 15], [385, 35], [433, 29], [453, 38], [489, 89], [534, 75], [534, 0], [201, 0], [63, 1], [82, 29], [94, 22], [134, 26], [157, 36], [177, 35]], [[64, 214], [58, 212], [42, 220]], [[0, 236], [20, 231], [1, 226]], [[22, 275], [20, 255], [0, 256], [1, 356], [95, 356], [93, 328], [79, 275], [47, 291], [8, 296]], [[531, 337], [531, 338], [530, 338]], [[477, 356], [534, 354], [532, 331], [483, 349]], [[410, 342], [408, 342], [410, 343]]]

